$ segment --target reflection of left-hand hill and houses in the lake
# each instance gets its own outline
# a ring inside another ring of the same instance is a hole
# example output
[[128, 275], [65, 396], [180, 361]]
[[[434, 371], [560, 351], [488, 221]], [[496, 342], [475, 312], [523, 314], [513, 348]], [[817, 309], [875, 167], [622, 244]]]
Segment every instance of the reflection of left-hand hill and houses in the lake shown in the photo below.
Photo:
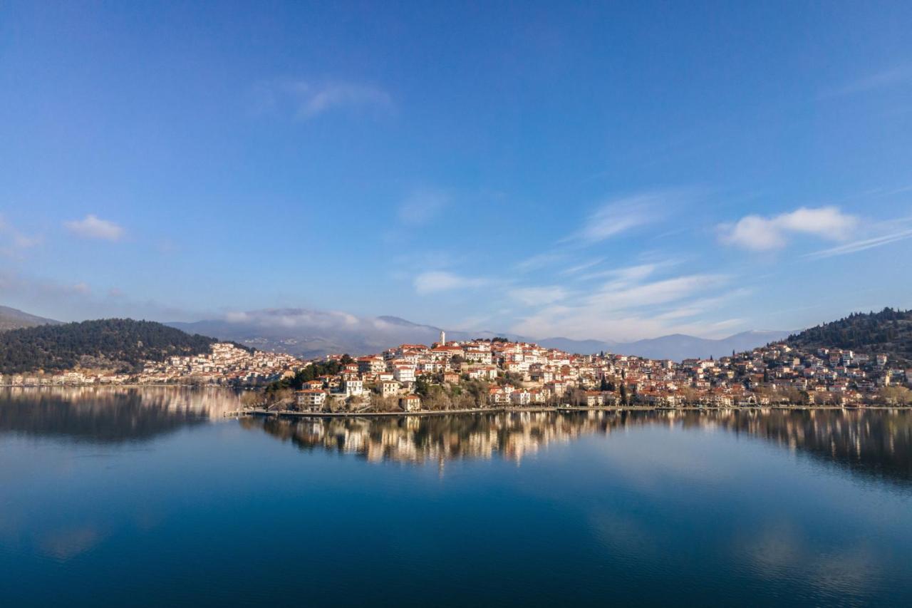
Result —
[[153, 438], [237, 410], [219, 388], [55, 386], [0, 389], [0, 434], [117, 443]]

